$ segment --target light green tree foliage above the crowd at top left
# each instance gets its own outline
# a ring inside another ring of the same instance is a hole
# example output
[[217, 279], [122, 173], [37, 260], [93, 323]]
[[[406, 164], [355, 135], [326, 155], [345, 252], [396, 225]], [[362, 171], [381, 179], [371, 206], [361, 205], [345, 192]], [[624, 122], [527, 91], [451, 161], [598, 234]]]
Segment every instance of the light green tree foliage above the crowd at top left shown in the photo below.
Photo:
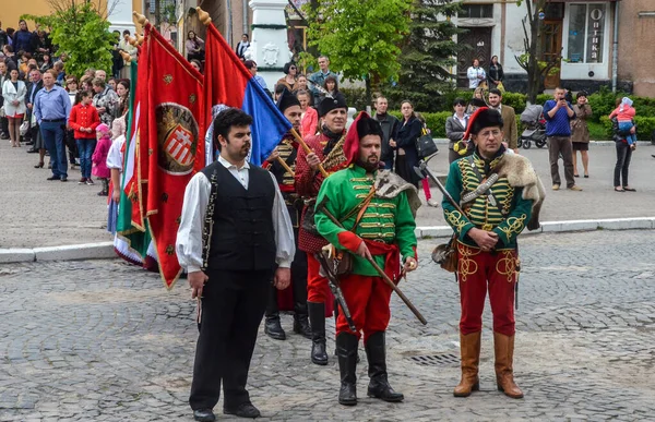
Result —
[[66, 55], [67, 74], [80, 76], [87, 68], [111, 69], [111, 48], [116, 39], [97, 5], [71, 1], [66, 8], [55, 8], [51, 15], [27, 14], [21, 19], [52, 28], [50, 38], [57, 46], [55, 55]]

